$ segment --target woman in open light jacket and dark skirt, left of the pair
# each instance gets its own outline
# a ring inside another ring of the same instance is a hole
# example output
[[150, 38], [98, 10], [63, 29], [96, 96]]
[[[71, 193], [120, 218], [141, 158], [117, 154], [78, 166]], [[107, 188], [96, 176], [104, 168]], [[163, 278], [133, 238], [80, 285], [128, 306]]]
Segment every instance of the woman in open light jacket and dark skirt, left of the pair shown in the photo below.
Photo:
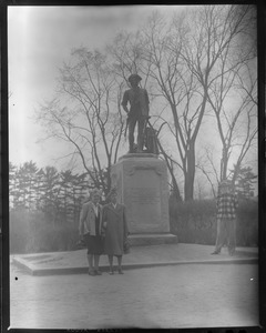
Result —
[[[80, 214], [80, 235], [84, 238], [88, 246], [89, 275], [101, 275], [99, 270], [100, 255], [103, 253], [102, 205], [99, 203], [101, 191], [94, 189], [91, 200], [82, 205]], [[94, 262], [94, 265], [93, 265]]]

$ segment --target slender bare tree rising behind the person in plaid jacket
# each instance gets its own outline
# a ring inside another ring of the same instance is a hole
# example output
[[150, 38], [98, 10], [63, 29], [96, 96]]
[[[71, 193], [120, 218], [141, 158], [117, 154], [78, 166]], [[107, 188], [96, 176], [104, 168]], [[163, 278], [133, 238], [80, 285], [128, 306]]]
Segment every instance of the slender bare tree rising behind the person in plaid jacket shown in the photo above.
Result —
[[[247, 42], [246, 42], [247, 44]], [[257, 134], [257, 78], [253, 47], [236, 48], [232, 59], [227, 44], [219, 56], [219, 69], [208, 89], [222, 142], [219, 180], [228, 176], [228, 163], [236, 160], [233, 182]]]

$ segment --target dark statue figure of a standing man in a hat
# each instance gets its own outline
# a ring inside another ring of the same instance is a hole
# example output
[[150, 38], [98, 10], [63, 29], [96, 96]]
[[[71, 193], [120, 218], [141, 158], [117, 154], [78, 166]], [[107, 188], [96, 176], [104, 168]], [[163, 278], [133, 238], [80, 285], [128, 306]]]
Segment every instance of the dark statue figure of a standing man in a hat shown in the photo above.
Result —
[[[137, 74], [131, 74], [129, 82], [131, 89], [123, 95], [122, 107], [127, 113], [130, 153], [134, 152], [134, 130], [137, 122], [137, 152], [143, 151], [144, 131], [149, 119], [149, 95], [145, 89], [139, 87], [142, 78]], [[130, 102], [130, 110], [127, 109]]]

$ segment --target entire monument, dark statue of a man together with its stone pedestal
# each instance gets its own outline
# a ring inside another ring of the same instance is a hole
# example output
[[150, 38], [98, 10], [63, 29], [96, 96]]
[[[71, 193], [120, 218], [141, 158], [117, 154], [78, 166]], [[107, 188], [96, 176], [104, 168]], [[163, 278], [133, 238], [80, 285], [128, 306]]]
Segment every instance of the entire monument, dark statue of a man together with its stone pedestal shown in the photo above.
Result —
[[[112, 167], [112, 186], [125, 204], [132, 245], [175, 243], [170, 233], [168, 183], [166, 163], [158, 159], [156, 144], [150, 143], [153, 131], [146, 130], [149, 97], [137, 84], [142, 78], [132, 74], [122, 105], [127, 113], [130, 151]], [[130, 110], [127, 109], [130, 103]], [[137, 148], [134, 150], [134, 129], [137, 122]], [[146, 145], [146, 151], [143, 150]]]

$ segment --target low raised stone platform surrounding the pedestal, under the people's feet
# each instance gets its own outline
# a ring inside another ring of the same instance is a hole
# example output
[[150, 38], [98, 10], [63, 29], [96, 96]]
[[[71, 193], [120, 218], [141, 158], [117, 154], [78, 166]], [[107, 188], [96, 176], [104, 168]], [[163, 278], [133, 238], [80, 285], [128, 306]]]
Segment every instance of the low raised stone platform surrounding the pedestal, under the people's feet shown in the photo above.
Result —
[[[176, 264], [222, 264], [256, 263], [257, 248], [238, 248], [234, 256], [223, 249], [219, 255], [211, 255], [214, 246], [198, 244], [164, 244], [134, 246], [123, 256], [124, 270], [166, 266]], [[84, 273], [88, 271], [86, 250], [54, 253], [12, 255], [11, 261], [28, 270], [32, 275]], [[106, 255], [102, 255], [100, 266], [109, 268]]]

